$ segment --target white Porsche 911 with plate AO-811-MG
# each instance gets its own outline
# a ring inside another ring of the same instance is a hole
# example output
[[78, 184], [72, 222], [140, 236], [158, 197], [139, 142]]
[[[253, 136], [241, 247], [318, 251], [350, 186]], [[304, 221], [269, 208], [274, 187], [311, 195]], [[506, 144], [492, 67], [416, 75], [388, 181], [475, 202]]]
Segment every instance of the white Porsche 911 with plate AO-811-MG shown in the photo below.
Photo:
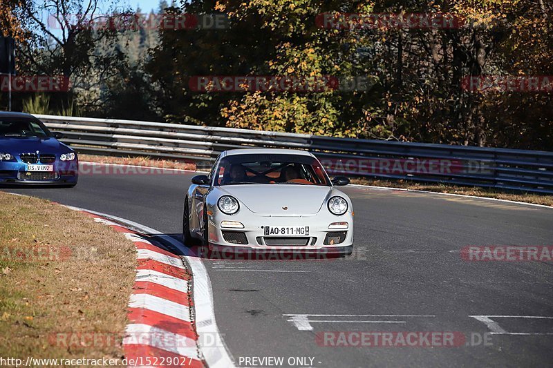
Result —
[[182, 238], [209, 249], [308, 251], [349, 255], [353, 208], [309, 152], [225, 151], [209, 175], [196, 175], [185, 197]]

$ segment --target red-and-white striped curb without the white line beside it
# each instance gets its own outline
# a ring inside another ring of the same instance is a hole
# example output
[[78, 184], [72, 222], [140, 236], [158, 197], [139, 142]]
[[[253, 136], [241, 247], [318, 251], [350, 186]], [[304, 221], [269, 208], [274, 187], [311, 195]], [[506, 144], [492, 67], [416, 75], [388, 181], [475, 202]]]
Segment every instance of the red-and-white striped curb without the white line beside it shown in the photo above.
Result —
[[[124, 233], [137, 249], [138, 267], [129, 300], [123, 351], [135, 367], [204, 367], [191, 314], [191, 277], [178, 255], [135, 231], [83, 211]], [[169, 364], [168, 364], [169, 363]]]

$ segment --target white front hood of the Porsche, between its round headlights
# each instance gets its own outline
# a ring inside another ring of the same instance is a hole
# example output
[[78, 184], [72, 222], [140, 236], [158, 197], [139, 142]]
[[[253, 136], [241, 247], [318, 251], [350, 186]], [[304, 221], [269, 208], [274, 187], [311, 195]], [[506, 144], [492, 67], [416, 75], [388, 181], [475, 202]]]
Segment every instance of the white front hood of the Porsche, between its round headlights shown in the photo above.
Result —
[[271, 215], [317, 213], [332, 190], [330, 186], [294, 184], [225, 185], [219, 188], [223, 194], [236, 197], [250, 211]]

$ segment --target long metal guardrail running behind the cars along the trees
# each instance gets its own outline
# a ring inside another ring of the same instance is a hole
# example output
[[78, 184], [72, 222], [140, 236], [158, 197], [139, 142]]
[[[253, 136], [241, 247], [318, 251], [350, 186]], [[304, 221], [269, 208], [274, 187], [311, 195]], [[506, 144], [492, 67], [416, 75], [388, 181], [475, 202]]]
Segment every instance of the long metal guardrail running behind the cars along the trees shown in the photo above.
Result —
[[297, 148], [330, 173], [553, 193], [553, 152], [321, 137], [264, 130], [35, 115], [79, 153], [213, 162], [233, 148]]

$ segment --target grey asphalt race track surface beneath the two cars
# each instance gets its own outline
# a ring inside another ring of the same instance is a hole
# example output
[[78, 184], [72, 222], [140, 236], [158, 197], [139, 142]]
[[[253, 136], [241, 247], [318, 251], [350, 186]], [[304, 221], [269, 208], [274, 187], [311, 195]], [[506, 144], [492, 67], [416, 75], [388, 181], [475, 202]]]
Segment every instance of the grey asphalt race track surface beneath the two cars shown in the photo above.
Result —
[[[82, 175], [75, 188], [2, 190], [124, 217], [180, 240], [191, 176]], [[359, 186], [344, 191], [355, 209], [349, 258], [203, 260], [236, 366], [269, 366], [253, 357], [283, 357], [285, 367], [553, 365], [553, 263], [468, 262], [460, 252], [551, 246], [553, 209]], [[329, 347], [317, 340], [324, 331], [454, 331], [476, 346]], [[288, 365], [291, 357], [307, 360]]]

